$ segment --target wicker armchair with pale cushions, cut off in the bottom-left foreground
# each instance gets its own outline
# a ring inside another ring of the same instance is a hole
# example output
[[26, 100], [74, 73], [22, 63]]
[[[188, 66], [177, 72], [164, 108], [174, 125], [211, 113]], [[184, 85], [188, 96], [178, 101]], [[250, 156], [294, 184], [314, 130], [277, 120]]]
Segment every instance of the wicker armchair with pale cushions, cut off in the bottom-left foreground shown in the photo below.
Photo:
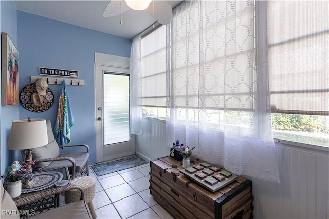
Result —
[[[0, 209], [1, 209], [1, 218], [15, 218], [19, 219], [20, 215], [18, 214], [20, 211], [17, 208], [17, 205], [12, 200], [10, 195], [7, 193], [7, 191], [4, 189], [2, 183], [0, 183]], [[29, 198], [21, 198], [19, 200], [19, 204], [25, 204], [31, 201], [36, 201], [39, 198], [47, 197], [49, 195], [59, 194], [62, 192], [69, 191], [71, 189], [78, 189], [81, 192], [80, 201], [72, 202], [69, 204], [66, 204], [64, 206], [54, 208], [52, 210], [46, 211], [44, 213], [36, 214], [30, 218], [92, 218], [92, 214], [89, 211], [89, 208], [85, 201], [83, 200], [83, 189], [79, 187], [78, 185], [69, 185], [69, 186], [63, 186], [58, 187], [56, 189], [52, 189], [51, 191], [46, 192], [39, 192], [33, 195]], [[24, 211], [23, 211], [24, 213]], [[33, 212], [31, 212], [33, 213]]]

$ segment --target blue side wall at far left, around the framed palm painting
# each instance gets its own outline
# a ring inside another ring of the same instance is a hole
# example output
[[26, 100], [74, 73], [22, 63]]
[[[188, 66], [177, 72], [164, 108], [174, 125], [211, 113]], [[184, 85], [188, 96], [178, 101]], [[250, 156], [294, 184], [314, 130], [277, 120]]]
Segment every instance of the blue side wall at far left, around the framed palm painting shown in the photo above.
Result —
[[[16, 7], [13, 1], [0, 1], [0, 29], [1, 32], [6, 32], [10, 36], [12, 42], [17, 46], [17, 19]], [[19, 61], [20, 63], [20, 61]], [[0, 69], [1, 71], [1, 69]], [[20, 74], [21, 72], [19, 72]], [[0, 78], [1, 81], [1, 78]], [[1, 90], [1, 89], [0, 89]], [[1, 92], [1, 91], [0, 91]], [[18, 151], [8, 151], [7, 143], [11, 128], [11, 122], [17, 120], [18, 105], [0, 106], [0, 173], [4, 173], [7, 166], [13, 160], [20, 158]]]

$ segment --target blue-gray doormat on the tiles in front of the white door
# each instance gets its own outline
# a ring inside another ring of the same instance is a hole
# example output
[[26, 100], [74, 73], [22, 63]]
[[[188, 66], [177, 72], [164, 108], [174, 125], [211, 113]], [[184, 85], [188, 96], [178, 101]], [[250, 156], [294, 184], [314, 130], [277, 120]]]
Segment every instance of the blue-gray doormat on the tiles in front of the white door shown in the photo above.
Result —
[[136, 167], [142, 164], [148, 163], [137, 155], [122, 158], [116, 161], [109, 161], [102, 164], [94, 164], [93, 168], [97, 176], [106, 175], [108, 173], [114, 173], [120, 170]]

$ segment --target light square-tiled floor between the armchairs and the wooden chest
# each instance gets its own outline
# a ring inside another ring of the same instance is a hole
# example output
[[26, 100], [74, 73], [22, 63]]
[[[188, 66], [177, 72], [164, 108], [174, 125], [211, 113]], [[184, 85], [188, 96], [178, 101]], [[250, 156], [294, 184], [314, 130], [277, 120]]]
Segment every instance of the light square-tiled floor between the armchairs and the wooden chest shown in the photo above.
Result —
[[96, 176], [93, 199], [97, 218], [173, 218], [150, 194], [150, 164]]

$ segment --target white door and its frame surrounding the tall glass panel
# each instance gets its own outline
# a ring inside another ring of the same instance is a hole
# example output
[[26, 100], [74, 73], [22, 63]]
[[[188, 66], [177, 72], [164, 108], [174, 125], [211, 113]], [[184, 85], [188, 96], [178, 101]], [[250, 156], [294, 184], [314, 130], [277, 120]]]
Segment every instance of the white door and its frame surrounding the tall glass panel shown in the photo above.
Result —
[[[121, 57], [116, 55], [108, 55], [103, 53], [95, 52], [95, 137], [96, 137], [96, 163], [102, 163], [108, 160], [114, 160], [115, 158], [128, 156], [136, 153], [135, 145], [135, 135], [131, 134], [131, 143], [132, 151], [131, 152], [122, 152], [116, 155], [103, 156], [104, 154], [104, 128], [103, 122], [99, 121], [98, 118], [103, 118], [103, 109], [98, 110], [98, 103], [102, 102], [103, 93], [97, 92], [98, 85], [101, 84], [103, 87], [102, 77], [97, 77], [97, 74], [102, 74], [103, 72], [113, 72], [113, 73], [125, 73], [129, 74], [130, 72], [130, 58]], [[100, 81], [101, 80], [101, 81]], [[120, 147], [121, 143], [117, 143], [117, 146]]]

